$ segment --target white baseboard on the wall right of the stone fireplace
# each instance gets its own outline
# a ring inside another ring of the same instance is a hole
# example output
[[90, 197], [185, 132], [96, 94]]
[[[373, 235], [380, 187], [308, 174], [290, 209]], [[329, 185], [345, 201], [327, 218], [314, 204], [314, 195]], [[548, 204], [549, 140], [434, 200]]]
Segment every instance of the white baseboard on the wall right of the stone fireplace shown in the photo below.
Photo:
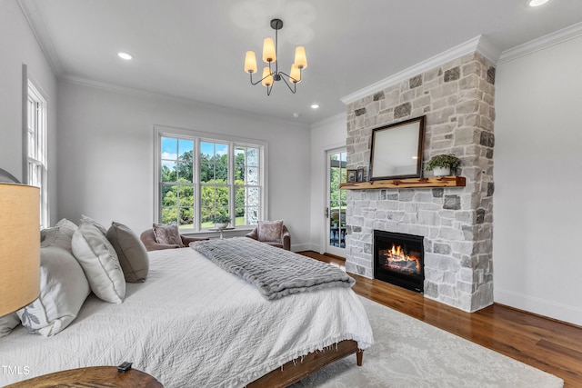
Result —
[[567, 304], [547, 301], [521, 293], [495, 288], [495, 303], [505, 304], [528, 313], [535, 313], [565, 323], [582, 326], [582, 309]]

